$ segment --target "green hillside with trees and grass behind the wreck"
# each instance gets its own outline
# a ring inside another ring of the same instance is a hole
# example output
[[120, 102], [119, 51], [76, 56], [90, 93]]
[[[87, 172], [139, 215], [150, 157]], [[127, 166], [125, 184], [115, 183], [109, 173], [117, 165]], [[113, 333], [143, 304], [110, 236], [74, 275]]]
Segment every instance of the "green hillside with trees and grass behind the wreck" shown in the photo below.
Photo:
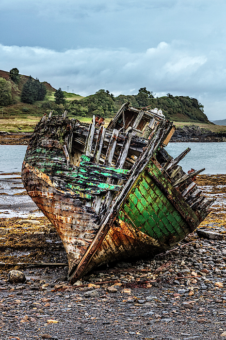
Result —
[[[69, 117], [79, 119], [87, 119], [93, 115], [111, 118], [124, 102], [130, 102], [135, 107], [158, 107], [170, 120], [212, 124], [204, 114], [203, 105], [195, 98], [174, 97], [170, 93], [167, 96], [155, 98], [153, 92], [143, 87], [137, 95], [119, 95], [118, 97], [114, 97], [104, 89], [88, 97], [63, 91], [65, 98], [62, 103], [57, 104], [54, 97], [56, 89], [50, 84], [40, 83], [38, 79], [31, 76], [12, 75], [11, 71], [0, 70], [0, 111], [2, 112], [0, 119], [40, 117], [45, 113], [48, 114], [50, 110], [53, 114], [61, 114], [67, 110]], [[26, 101], [29, 96], [33, 96], [31, 101]]]

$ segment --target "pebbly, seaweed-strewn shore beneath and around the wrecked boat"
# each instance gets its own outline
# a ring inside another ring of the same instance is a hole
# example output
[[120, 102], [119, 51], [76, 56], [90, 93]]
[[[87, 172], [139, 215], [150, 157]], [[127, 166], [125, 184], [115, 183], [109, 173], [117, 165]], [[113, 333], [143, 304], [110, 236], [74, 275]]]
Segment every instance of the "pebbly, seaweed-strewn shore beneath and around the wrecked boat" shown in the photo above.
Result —
[[[66, 263], [45, 218], [35, 218], [37, 225], [0, 219], [0, 230], [8, 229], [0, 235], [0, 339], [224, 339], [226, 175], [202, 175], [197, 183], [217, 198], [200, 229], [221, 240], [194, 232], [167, 254], [99, 268], [74, 286], [66, 265], [37, 264]], [[26, 282], [10, 283], [11, 269]]]

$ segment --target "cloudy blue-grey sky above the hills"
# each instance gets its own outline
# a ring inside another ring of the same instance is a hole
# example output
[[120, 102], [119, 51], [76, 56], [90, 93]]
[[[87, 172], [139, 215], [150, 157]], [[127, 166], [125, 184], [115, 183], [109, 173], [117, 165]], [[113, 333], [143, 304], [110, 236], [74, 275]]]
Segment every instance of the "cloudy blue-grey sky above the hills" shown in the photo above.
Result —
[[81, 96], [189, 96], [226, 119], [225, 13], [225, 0], [1, 0], [0, 69]]

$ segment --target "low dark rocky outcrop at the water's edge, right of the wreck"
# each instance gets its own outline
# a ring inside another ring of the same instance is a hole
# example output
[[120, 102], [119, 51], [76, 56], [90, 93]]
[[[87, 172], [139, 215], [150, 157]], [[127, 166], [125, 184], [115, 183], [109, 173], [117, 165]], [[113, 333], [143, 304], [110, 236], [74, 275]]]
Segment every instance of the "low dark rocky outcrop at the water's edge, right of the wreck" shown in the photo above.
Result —
[[214, 133], [197, 125], [177, 128], [171, 142], [226, 142], [226, 133]]

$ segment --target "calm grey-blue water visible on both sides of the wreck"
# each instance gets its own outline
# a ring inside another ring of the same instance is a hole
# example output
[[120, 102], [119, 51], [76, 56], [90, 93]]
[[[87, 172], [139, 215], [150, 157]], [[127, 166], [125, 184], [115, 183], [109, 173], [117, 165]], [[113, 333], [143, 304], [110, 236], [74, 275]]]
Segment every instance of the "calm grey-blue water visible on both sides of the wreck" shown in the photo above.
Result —
[[[169, 143], [166, 151], [175, 158], [187, 148], [191, 151], [179, 163], [185, 172], [226, 173], [226, 143]], [[21, 171], [26, 150], [26, 145], [0, 145], [0, 173]]]

